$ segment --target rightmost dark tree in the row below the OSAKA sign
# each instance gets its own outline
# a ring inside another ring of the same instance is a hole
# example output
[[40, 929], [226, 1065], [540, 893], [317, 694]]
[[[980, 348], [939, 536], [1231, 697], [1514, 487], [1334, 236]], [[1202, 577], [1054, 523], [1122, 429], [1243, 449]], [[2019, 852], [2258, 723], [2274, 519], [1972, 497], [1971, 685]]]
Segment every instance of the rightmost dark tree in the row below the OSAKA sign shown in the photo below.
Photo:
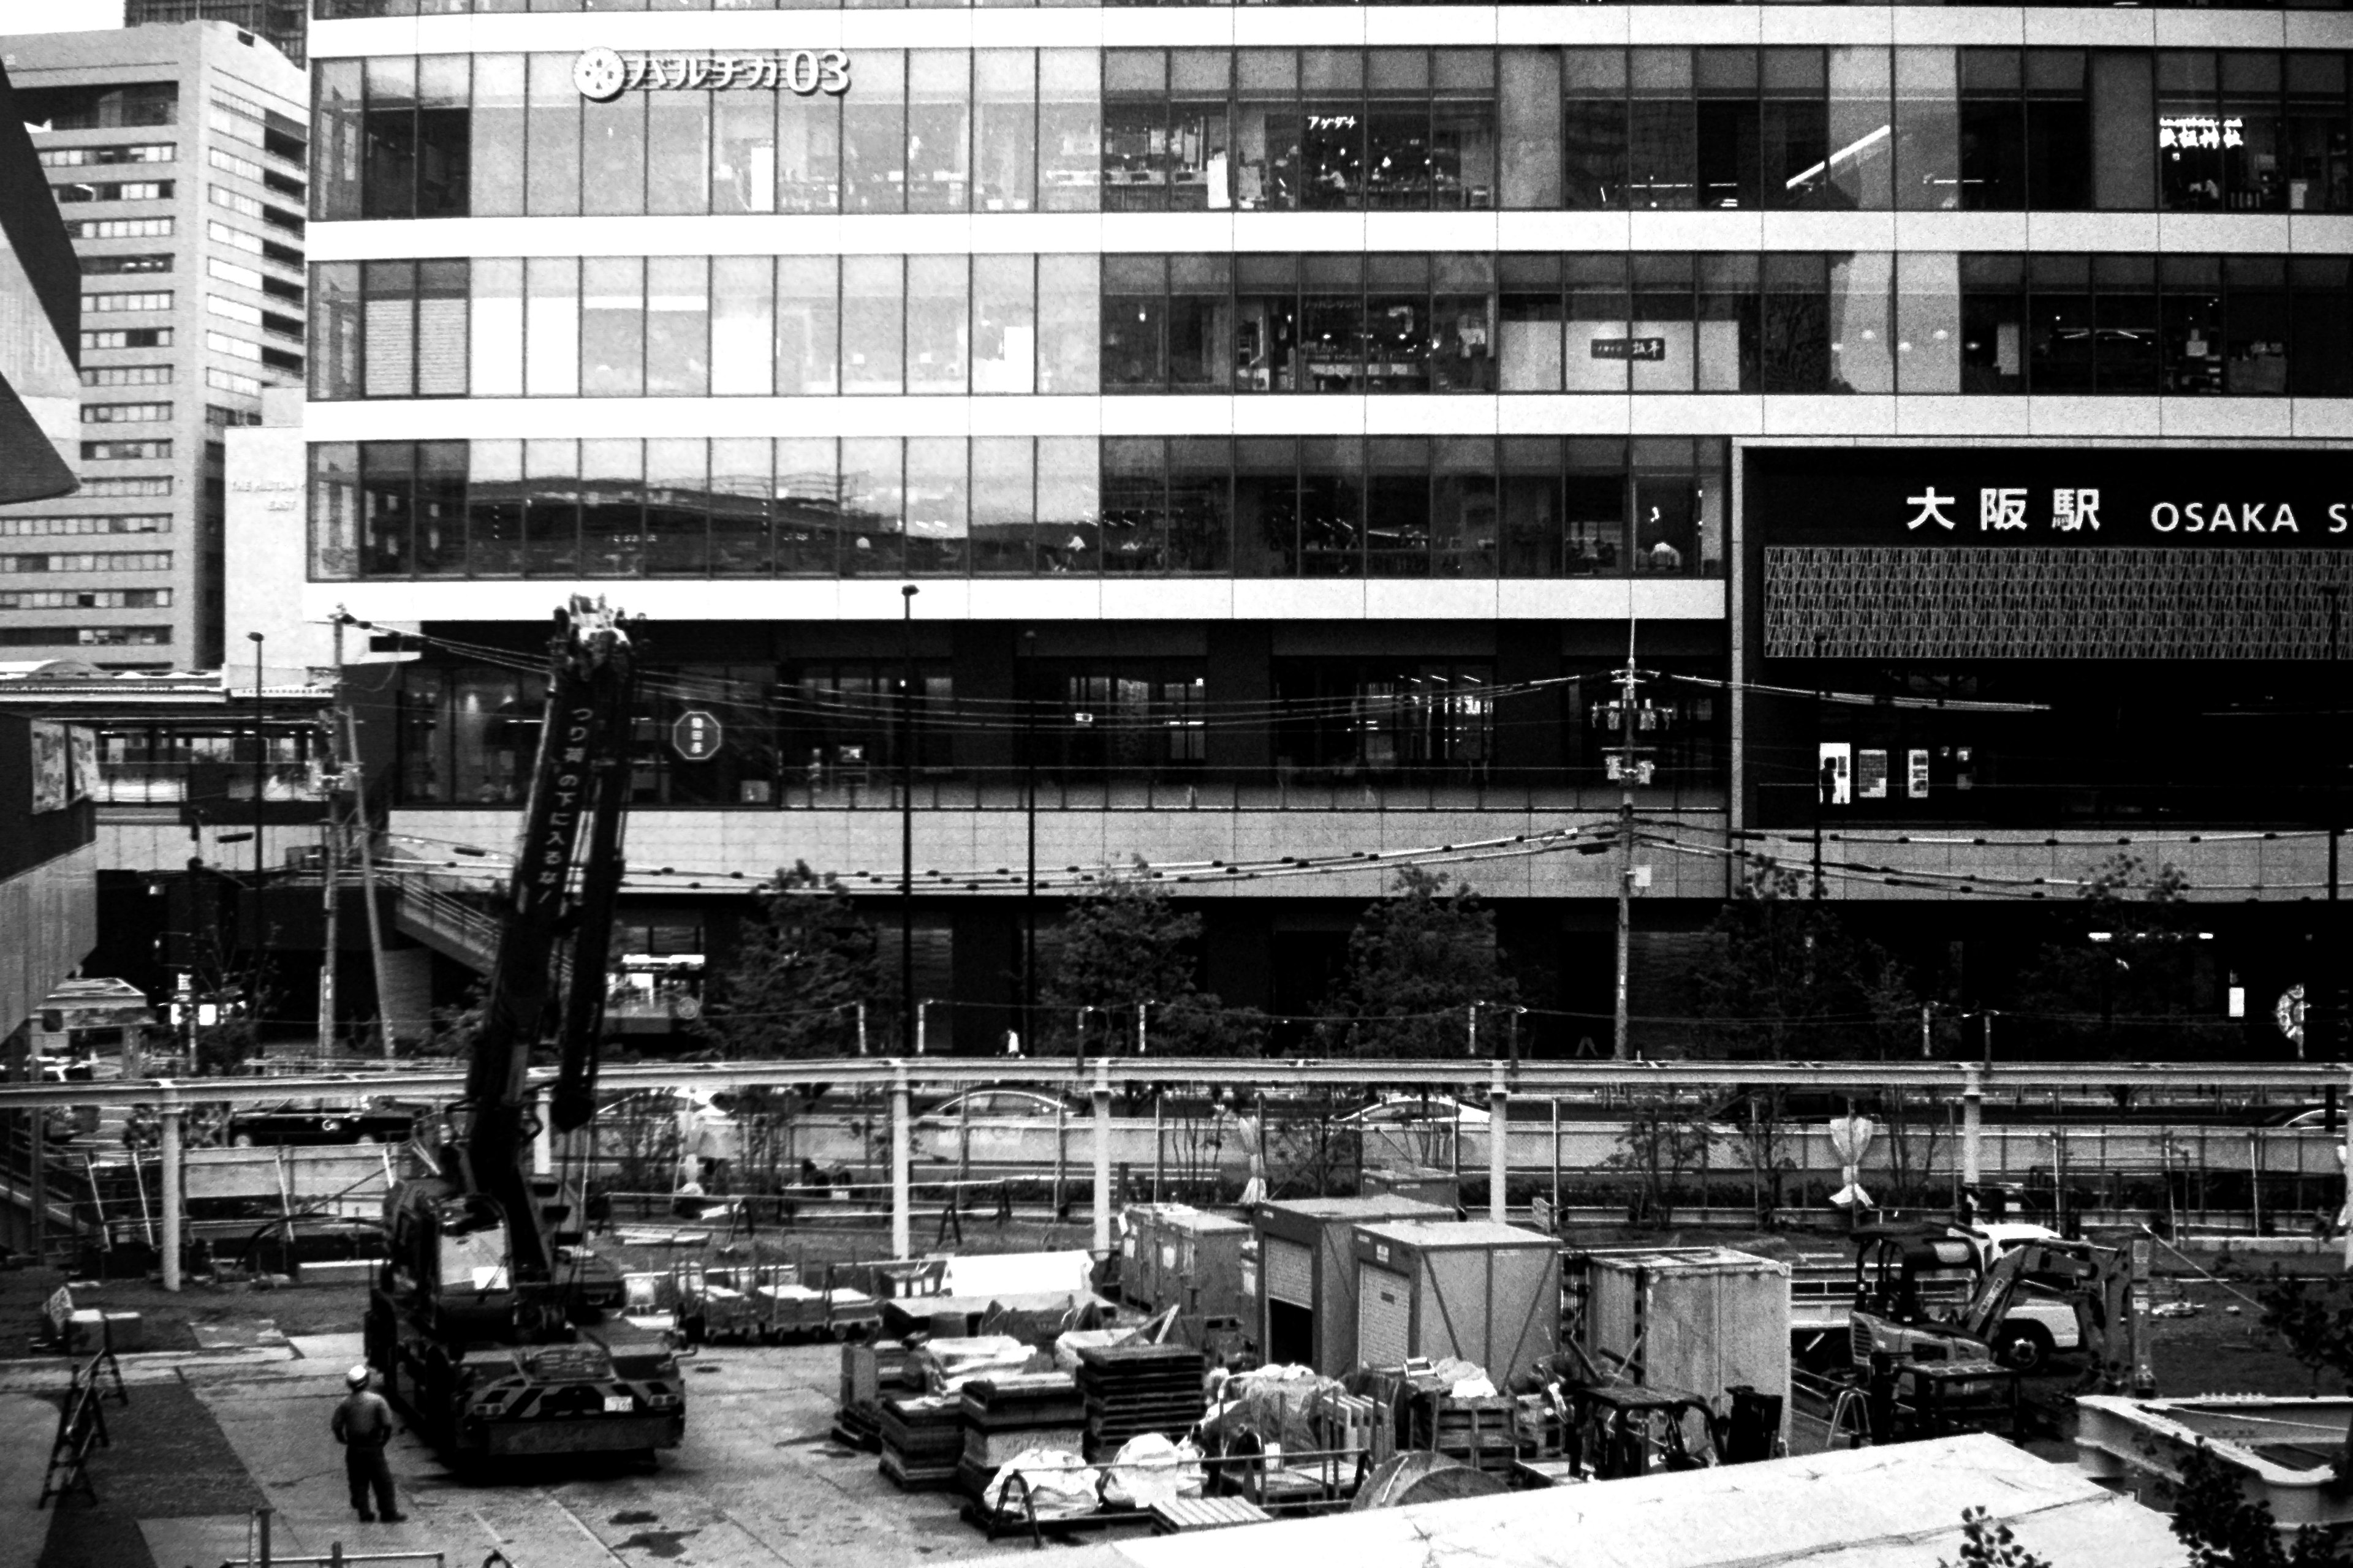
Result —
[[2017, 1032], [2066, 1058], [2217, 1056], [2238, 1030], [2200, 1006], [2202, 957], [2188, 877], [2113, 853], [2087, 870], [2064, 931], [2019, 976]]

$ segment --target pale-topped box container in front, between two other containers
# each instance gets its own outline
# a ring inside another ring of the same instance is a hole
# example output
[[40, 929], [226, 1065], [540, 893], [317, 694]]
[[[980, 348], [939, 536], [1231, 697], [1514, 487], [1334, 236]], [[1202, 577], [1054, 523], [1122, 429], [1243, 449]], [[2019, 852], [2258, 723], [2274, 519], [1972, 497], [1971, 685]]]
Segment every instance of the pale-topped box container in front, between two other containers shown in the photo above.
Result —
[[1355, 1356], [1398, 1366], [1459, 1356], [1497, 1387], [1560, 1347], [1560, 1248], [1492, 1220], [1388, 1220], [1355, 1229]]

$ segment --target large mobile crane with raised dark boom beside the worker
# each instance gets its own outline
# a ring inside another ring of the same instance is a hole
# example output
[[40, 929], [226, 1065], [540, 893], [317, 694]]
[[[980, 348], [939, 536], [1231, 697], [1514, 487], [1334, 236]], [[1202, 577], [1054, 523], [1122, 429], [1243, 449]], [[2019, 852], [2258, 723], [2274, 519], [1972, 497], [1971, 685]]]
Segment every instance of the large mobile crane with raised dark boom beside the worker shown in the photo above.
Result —
[[[555, 1037], [551, 1124], [595, 1114], [605, 964], [621, 891], [635, 651], [602, 599], [555, 611], [548, 703], [482, 1023], [440, 1171], [393, 1187], [367, 1363], [447, 1458], [642, 1453], [685, 1436], [668, 1340], [621, 1314], [579, 1192], [534, 1175], [532, 1051]], [[558, 1006], [560, 997], [560, 1006]]]

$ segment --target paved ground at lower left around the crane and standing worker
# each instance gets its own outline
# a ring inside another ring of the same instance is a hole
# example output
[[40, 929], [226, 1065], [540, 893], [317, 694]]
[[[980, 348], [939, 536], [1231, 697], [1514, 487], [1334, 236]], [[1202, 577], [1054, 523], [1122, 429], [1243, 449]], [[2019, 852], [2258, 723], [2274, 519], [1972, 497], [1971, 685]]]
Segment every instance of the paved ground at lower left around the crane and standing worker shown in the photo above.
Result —
[[[687, 1441], [659, 1469], [602, 1462], [504, 1481], [459, 1479], [414, 1439], [393, 1443], [407, 1523], [362, 1526], [327, 1415], [358, 1335], [231, 1356], [134, 1356], [129, 1406], [92, 1462], [99, 1507], [35, 1512], [59, 1368], [0, 1371], [0, 1568], [216, 1568], [247, 1554], [268, 1502], [278, 1556], [445, 1552], [475, 1568], [899, 1568], [988, 1554], [948, 1493], [899, 1493], [873, 1455], [826, 1441], [840, 1352], [720, 1349], [689, 1366]], [[1009, 1547], [998, 1547], [998, 1552]]]

